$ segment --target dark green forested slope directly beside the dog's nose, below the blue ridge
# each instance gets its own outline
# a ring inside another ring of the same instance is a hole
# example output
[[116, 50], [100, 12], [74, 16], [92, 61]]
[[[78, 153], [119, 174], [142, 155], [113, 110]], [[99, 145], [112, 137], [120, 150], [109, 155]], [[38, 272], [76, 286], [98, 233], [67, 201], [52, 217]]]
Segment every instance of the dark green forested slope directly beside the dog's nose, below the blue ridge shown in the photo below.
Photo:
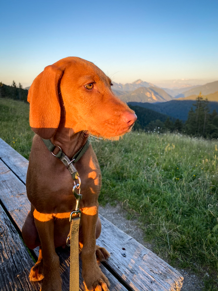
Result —
[[[141, 128], [146, 127], [146, 125], [148, 125], [151, 121], [156, 121], [159, 119], [160, 121], [165, 122], [165, 120], [170, 117], [140, 106], [132, 106], [129, 104], [129, 107], [135, 111], [135, 114], [137, 115], [137, 123], [140, 124]], [[175, 118], [173, 117], [170, 117], [170, 119], [175, 121]]]

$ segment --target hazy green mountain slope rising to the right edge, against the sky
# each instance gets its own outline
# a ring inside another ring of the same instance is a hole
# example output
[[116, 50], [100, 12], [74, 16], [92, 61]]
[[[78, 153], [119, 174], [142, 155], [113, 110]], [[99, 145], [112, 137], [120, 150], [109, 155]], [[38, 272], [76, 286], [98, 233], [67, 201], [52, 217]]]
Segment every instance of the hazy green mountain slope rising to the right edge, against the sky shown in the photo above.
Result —
[[199, 95], [201, 92], [203, 95], [208, 95], [218, 91], [218, 81], [207, 83], [203, 86], [192, 88], [188, 91], [184, 91], [182, 94], [177, 95], [175, 98], [188, 97], [190, 95]]

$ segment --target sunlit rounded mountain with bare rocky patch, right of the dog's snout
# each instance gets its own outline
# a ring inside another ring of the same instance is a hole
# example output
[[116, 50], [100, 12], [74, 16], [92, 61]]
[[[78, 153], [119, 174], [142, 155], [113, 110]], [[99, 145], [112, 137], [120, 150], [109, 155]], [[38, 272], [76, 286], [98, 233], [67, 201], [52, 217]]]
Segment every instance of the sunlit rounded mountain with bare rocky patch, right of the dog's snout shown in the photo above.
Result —
[[119, 95], [124, 102], [166, 102], [173, 97], [167, 94], [163, 89], [156, 87], [140, 87], [129, 94]]

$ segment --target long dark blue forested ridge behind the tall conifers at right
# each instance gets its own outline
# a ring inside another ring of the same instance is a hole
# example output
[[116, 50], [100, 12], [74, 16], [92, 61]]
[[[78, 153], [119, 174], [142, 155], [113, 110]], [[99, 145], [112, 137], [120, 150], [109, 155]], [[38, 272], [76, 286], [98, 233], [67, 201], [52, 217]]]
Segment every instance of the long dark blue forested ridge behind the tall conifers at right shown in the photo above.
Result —
[[[167, 114], [174, 118], [182, 119], [183, 121], [187, 120], [188, 112], [190, 111], [191, 107], [193, 107], [193, 109], [195, 108], [193, 106], [193, 100], [178, 100], [178, 99], [156, 104], [151, 104], [148, 102], [146, 103], [129, 102], [128, 105], [129, 104], [133, 106], [140, 106], [147, 109], [151, 109], [162, 114]], [[210, 102], [209, 107], [210, 113], [214, 109], [216, 109], [216, 111], [218, 112], [218, 102]]]

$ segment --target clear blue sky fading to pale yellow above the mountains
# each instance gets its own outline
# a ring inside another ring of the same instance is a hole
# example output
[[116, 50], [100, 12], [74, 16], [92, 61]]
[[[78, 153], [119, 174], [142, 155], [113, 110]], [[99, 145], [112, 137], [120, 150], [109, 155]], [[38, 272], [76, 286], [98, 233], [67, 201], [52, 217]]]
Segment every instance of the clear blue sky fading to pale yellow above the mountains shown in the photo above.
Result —
[[0, 81], [28, 86], [67, 56], [115, 82], [218, 79], [218, 1], [2, 1]]

